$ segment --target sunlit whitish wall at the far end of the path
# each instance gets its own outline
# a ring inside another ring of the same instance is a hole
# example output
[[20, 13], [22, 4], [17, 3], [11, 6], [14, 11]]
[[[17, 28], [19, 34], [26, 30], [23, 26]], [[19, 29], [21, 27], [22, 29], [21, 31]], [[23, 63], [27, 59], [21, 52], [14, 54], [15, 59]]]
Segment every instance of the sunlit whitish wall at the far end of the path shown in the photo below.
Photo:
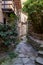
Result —
[[[21, 22], [25, 23], [27, 22], [27, 15], [21, 12]], [[25, 35], [27, 31], [27, 24], [21, 24], [20, 26], [20, 35]]]

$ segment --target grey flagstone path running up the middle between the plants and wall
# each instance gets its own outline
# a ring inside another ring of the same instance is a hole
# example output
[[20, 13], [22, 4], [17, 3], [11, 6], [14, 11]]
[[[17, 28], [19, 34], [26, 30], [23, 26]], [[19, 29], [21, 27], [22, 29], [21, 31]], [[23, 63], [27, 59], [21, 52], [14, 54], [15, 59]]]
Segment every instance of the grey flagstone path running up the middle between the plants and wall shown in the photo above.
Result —
[[37, 52], [31, 45], [26, 44], [26, 40], [21, 41], [15, 51], [18, 53], [18, 57], [4, 65], [35, 65]]

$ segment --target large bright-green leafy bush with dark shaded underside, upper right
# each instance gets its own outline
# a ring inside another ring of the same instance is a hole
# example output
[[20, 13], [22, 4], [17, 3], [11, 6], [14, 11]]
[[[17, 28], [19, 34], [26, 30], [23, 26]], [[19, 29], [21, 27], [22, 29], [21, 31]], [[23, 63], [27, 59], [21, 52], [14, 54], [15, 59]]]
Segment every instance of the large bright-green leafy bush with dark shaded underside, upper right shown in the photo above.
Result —
[[43, 34], [43, 0], [27, 0], [23, 11], [28, 13], [34, 32]]

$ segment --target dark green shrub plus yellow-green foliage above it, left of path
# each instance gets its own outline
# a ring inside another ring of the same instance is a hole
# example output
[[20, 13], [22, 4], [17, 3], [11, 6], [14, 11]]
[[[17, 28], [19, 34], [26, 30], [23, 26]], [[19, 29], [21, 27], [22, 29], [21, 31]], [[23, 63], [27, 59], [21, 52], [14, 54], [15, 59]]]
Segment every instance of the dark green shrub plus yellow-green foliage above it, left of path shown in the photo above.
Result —
[[0, 38], [3, 40], [3, 45], [9, 47], [12, 43], [17, 45], [17, 16], [10, 13], [8, 17], [8, 24], [0, 24]]

